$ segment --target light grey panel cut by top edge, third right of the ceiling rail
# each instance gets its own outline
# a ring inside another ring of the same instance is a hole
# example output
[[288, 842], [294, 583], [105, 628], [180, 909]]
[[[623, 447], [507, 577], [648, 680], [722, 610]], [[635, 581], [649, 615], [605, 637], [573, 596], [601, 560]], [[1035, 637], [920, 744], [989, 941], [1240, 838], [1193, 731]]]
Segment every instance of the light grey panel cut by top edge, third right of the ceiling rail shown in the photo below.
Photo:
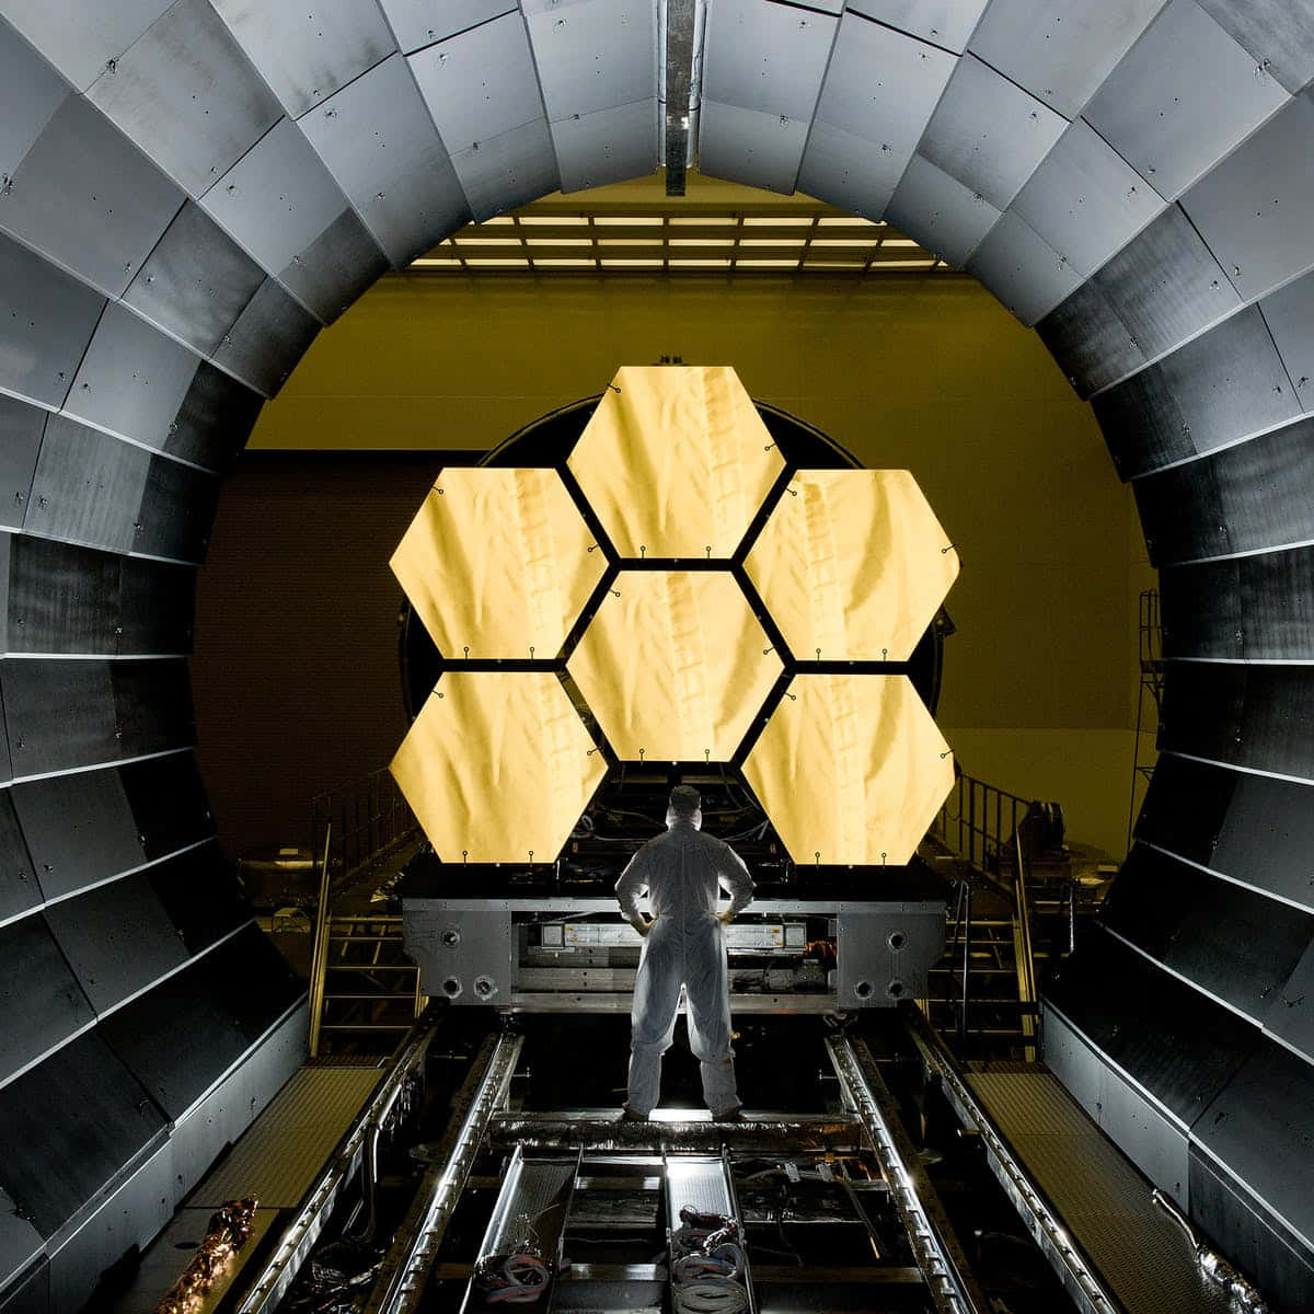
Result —
[[1067, 118], [1099, 91], [1164, 0], [993, 0], [971, 50]]

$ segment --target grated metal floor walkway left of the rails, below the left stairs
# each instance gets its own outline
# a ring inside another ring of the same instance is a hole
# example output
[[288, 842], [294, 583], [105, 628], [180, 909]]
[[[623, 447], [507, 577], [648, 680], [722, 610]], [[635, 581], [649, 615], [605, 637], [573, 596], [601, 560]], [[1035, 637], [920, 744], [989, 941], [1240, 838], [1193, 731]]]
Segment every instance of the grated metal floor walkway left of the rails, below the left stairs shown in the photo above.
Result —
[[261, 1208], [293, 1209], [351, 1126], [381, 1068], [304, 1067], [196, 1188], [188, 1205], [217, 1208], [255, 1196]]

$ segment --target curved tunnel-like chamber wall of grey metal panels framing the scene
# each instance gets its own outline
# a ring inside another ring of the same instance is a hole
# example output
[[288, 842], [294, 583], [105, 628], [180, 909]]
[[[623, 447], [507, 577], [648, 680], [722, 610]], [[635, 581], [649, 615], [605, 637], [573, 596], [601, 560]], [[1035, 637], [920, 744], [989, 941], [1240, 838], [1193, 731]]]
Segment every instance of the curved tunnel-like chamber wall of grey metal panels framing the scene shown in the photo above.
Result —
[[[966, 267], [1134, 482], [1164, 756], [1050, 1059], [1309, 1307], [1314, 11], [708, 8], [703, 171], [886, 214]], [[185, 673], [261, 398], [388, 265], [664, 154], [643, 0], [314, 11], [0, 0], [0, 1309], [75, 1309], [296, 1062]]]

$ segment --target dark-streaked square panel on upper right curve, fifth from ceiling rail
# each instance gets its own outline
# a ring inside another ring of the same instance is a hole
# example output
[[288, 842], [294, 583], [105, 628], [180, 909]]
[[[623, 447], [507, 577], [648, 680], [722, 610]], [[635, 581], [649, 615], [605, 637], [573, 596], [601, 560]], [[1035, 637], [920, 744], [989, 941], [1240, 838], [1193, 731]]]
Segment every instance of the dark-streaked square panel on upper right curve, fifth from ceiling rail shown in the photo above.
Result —
[[1146, 357], [1240, 309], [1240, 297], [1180, 206], [1137, 234], [1095, 283]]

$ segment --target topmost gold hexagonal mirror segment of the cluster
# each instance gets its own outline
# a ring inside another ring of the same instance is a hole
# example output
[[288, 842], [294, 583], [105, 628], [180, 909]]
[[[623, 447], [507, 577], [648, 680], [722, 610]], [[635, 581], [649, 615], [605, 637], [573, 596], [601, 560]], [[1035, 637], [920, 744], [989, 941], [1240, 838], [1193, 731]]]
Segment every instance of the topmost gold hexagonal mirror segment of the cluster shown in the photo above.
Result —
[[627, 365], [566, 465], [622, 557], [728, 558], [784, 469], [728, 365]]

